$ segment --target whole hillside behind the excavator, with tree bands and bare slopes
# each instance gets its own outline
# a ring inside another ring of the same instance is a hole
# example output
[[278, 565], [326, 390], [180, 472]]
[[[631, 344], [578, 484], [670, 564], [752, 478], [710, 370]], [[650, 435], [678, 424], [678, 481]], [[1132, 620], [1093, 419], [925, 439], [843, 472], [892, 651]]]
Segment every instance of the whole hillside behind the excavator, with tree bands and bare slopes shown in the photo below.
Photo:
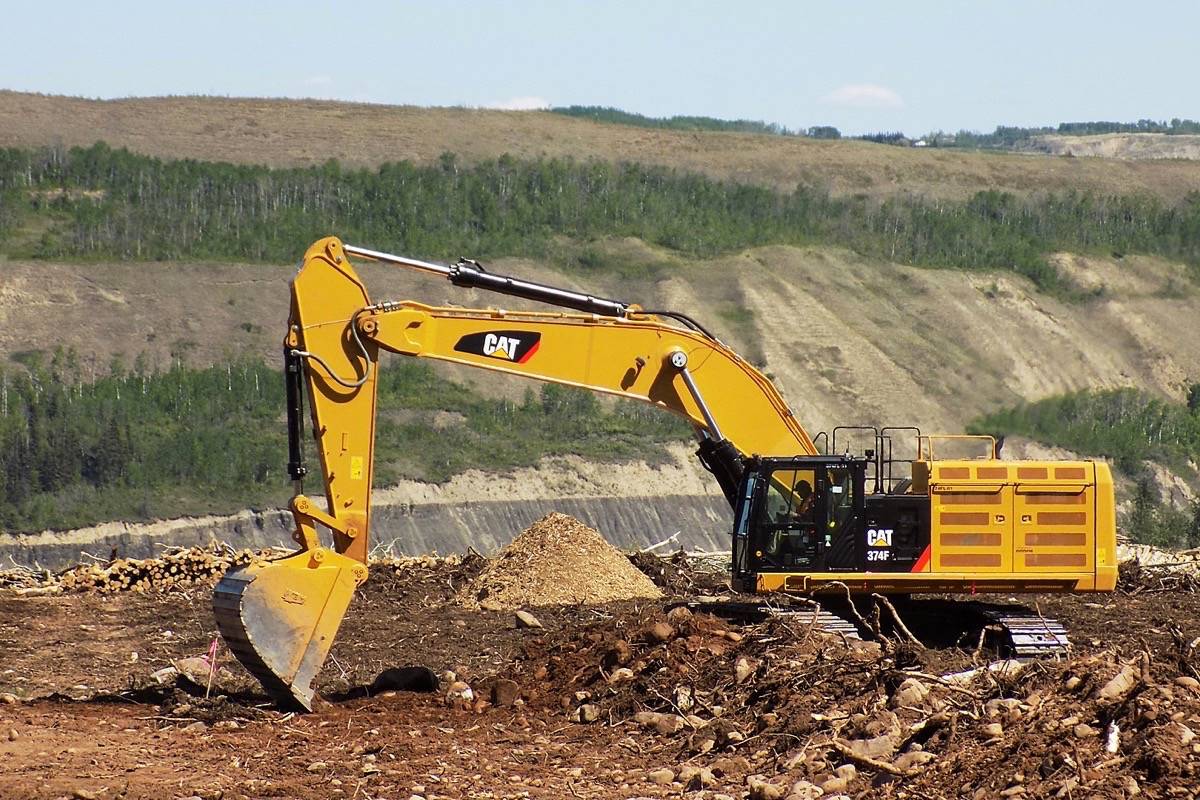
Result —
[[[812, 432], [953, 432], [1080, 390], [1182, 402], [1200, 378], [1194, 164], [336, 103], [0, 94], [0, 139], [22, 145], [0, 157], [11, 525], [281, 499], [278, 385], [260, 362], [278, 356], [296, 257], [328, 233], [686, 312], [764, 368]], [[91, 146], [101, 131], [164, 158]], [[72, 137], [88, 146], [25, 146]], [[214, 154], [229, 161], [196, 160]], [[528, 307], [361, 271], [376, 300]], [[76, 350], [70, 368], [20, 383], [60, 345]], [[553, 452], [646, 456], [679, 435], [520, 379], [394, 368], [383, 481]], [[252, 393], [235, 391], [238, 371]], [[496, 425], [514, 415], [515, 434]]]

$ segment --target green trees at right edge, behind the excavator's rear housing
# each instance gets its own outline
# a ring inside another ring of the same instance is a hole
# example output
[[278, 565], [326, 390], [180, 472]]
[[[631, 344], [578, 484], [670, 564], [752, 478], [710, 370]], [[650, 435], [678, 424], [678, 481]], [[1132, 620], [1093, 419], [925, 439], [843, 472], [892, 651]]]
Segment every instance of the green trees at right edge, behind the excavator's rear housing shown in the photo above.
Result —
[[1177, 474], [1194, 473], [1189, 463], [1200, 463], [1200, 384], [1192, 385], [1187, 403], [1136, 389], [1073, 392], [990, 414], [970, 431], [1022, 435], [1111, 459], [1135, 486], [1123, 530], [1150, 545], [1200, 547], [1200, 501], [1187, 511], [1163, 503], [1146, 469], [1146, 462], [1154, 462]]

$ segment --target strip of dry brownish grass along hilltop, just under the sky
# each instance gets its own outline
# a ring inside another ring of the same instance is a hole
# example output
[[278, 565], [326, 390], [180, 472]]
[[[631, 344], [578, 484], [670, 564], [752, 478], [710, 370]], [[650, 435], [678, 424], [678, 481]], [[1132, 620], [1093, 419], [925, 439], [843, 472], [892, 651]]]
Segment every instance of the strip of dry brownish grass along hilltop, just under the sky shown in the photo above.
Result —
[[366, 106], [326, 101], [163, 97], [95, 101], [0, 92], [0, 145], [114, 146], [163, 158], [272, 166], [336, 158], [376, 166], [467, 161], [503, 154], [638, 161], [769, 184], [827, 185], [836, 193], [962, 198], [1016, 193], [1150, 192], [1177, 199], [1200, 185], [1200, 163], [913, 150], [746, 133], [688, 133], [605, 125], [545, 112]]

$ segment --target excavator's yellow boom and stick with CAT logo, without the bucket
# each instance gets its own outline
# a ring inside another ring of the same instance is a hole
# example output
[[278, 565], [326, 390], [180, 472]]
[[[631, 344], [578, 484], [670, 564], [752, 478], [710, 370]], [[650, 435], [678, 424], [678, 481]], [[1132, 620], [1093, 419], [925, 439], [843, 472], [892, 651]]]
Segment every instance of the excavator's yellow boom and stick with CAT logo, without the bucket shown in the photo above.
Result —
[[288, 342], [307, 362], [335, 548], [359, 561], [367, 552], [379, 349], [643, 401], [740, 455], [816, 453], [774, 385], [742, 356], [644, 314], [371, 305], [335, 239], [310, 248], [292, 287]]

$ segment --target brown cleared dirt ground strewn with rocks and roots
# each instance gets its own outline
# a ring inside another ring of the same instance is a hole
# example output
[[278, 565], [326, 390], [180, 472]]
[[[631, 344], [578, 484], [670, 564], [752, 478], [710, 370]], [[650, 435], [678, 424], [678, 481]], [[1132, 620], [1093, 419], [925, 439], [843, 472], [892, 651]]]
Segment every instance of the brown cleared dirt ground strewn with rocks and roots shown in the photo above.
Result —
[[[524, 630], [511, 613], [455, 604], [480, 566], [376, 570], [318, 679], [324, 699], [300, 716], [274, 710], [236, 666], [211, 700], [187, 681], [149, 680], [170, 660], [206, 650], [206, 587], [0, 591], [0, 699], [20, 698], [0, 704], [0, 796], [780, 798], [752, 776], [786, 793], [800, 780], [834, 780], [842, 763], [857, 763], [856, 775], [826, 783], [827, 794], [1195, 795], [1200, 756], [1183, 729], [1200, 730], [1200, 690], [1176, 680], [1196, 663], [1180, 644], [1200, 637], [1192, 591], [1142, 581], [1106, 597], [1024, 599], [1067, 624], [1072, 660], [955, 685], [938, 675], [983, 661], [973, 642], [941, 640], [954, 619], [943, 600], [901, 607], [924, 650], [678, 613], [661, 639], [665, 601], [538, 608], [545, 627]], [[686, 569], [659, 577], [672, 593], [714, 590]], [[632, 668], [625, 682], [613, 678], [622, 663]], [[445, 684], [425, 693], [367, 688], [385, 668], [406, 664], [454, 669], [476, 700], [498, 704], [448, 708]], [[1118, 705], [1104, 705], [1121, 664], [1135, 664], [1127, 669], [1133, 684]], [[929, 697], [904, 693], [913, 675], [924, 676]], [[506, 699], [492, 693], [499, 680], [515, 684]], [[514, 696], [520, 702], [506, 705]], [[686, 697], [706, 722], [673, 730]], [[936, 697], [940, 706], [925, 705]], [[726, 698], [720, 717], [715, 698]], [[596, 709], [590, 723], [575, 721], [584, 700]], [[640, 723], [644, 710], [667, 714]], [[894, 762], [917, 764], [902, 777], [830, 750], [830, 735], [854, 747], [871, 741], [878, 720], [917, 729], [904, 745], [908, 760]], [[1120, 729], [1115, 752], [1105, 748], [1109, 721]], [[924, 745], [914, 747], [918, 739]], [[920, 752], [928, 756], [912, 754]]]

